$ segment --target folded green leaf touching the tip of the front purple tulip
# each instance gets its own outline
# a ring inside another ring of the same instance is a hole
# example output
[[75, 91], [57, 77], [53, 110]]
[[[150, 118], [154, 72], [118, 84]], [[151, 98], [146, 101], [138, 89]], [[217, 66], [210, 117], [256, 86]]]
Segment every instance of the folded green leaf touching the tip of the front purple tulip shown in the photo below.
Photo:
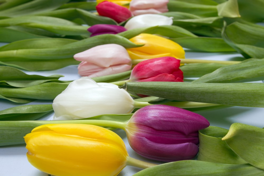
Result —
[[246, 164], [247, 162], [235, 154], [222, 140], [227, 132], [227, 129], [215, 126], [199, 130], [200, 144], [197, 160], [225, 164]]

